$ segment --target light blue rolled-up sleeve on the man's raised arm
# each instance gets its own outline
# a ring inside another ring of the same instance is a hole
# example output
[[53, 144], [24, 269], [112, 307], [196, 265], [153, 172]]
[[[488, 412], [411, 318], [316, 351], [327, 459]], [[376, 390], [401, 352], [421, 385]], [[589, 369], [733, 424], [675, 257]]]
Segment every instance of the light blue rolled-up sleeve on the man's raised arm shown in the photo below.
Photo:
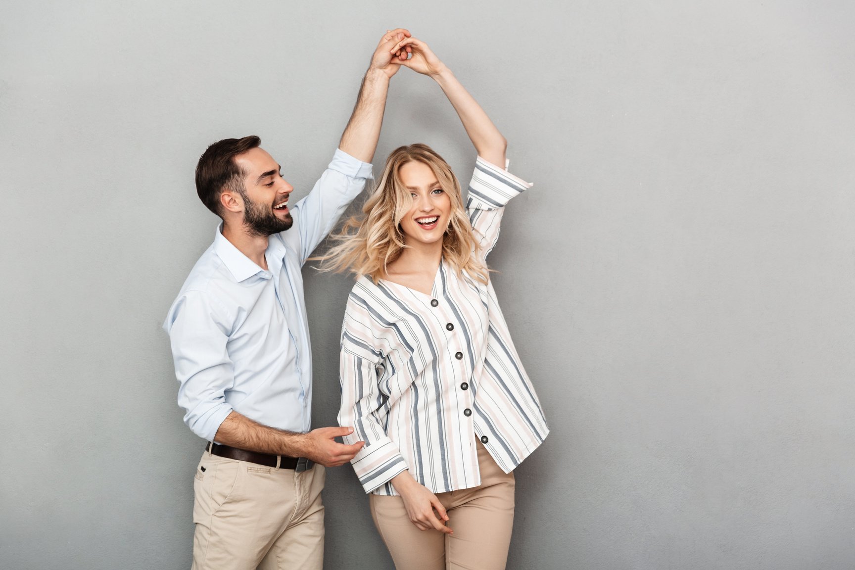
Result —
[[336, 149], [333, 160], [312, 191], [292, 208], [297, 232], [288, 230], [280, 235], [286, 242], [299, 238], [292, 247], [299, 252], [302, 265], [357, 197], [366, 180], [373, 178], [371, 165]]

